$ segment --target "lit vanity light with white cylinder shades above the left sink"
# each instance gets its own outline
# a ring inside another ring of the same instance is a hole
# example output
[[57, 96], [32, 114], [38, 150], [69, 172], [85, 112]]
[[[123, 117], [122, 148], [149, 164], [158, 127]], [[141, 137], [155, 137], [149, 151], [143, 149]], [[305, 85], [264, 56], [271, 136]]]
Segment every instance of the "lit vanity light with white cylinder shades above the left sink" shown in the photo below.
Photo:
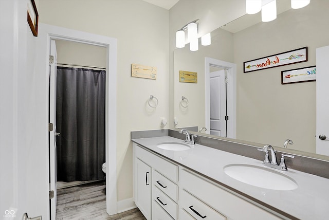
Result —
[[[190, 43], [190, 50], [196, 51], [199, 49], [199, 40], [197, 36], [197, 27], [199, 20], [195, 20], [185, 25], [178, 31], [176, 31], [176, 47], [183, 48], [185, 47], [186, 32], [187, 32], [187, 41]], [[203, 46], [208, 46], [211, 44], [211, 34], [207, 33], [201, 37], [201, 44]]]

